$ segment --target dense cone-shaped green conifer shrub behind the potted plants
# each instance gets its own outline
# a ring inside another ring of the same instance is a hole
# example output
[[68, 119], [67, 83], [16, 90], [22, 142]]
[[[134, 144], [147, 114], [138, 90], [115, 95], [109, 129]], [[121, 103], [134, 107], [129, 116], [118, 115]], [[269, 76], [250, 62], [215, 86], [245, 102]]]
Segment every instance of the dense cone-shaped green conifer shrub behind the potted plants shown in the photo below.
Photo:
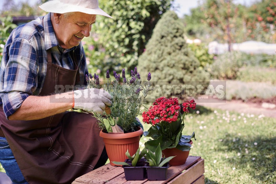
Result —
[[[172, 84], [184, 85], [191, 81], [207, 81], [209, 74], [201, 70], [200, 62], [187, 47], [184, 38], [184, 27], [179, 23], [177, 15], [166, 12], [153, 30], [152, 38], [146, 45], [145, 52], [139, 57], [138, 69], [141, 75], [148, 71], [152, 73], [152, 84], [162, 84], [160, 88], [153, 90], [154, 97], [171, 97], [179, 91]], [[170, 89], [163, 89], [164, 86], [171, 86]], [[201, 92], [196, 85], [190, 95], [194, 96]], [[186, 95], [184, 94], [183, 97]]]

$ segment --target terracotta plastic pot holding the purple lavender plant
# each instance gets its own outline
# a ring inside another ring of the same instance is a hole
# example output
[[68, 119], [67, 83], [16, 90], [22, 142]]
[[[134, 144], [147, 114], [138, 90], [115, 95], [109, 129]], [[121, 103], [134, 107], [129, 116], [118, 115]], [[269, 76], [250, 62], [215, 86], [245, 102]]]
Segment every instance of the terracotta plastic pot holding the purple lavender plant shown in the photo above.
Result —
[[126, 151], [132, 156], [139, 148], [140, 136], [143, 134], [143, 129], [136, 132], [111, 134], [100, 132], [100, 137], [104, 138], [107, 156], [112, 166], [122, 166], [112, 163], [113, 161], [124, 162], [127, 159]]

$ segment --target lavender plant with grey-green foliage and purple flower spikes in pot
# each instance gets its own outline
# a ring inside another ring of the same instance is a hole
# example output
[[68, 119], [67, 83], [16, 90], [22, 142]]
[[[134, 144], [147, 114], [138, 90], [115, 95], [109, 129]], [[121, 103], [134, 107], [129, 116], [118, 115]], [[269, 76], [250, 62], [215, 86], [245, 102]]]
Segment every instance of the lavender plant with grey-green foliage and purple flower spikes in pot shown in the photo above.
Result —
[[[139, 120], [136, 117], [142, 114], [141, 107], [146, 104], [147, 94], [153, 88], [149, 81], [142, 83], [141, 79], [138, 79], [137, 74], [133, 77], [135, 78], [133, 83], [127, 78], [126, 83], [120, 82], [123, 80], [122, 78], [119, 81], [109, 78], [105, 85], [95, 85], [92, 79], [88, 82], [90, 88], [104, 88], [112, 96], [111, 115], [107, 115], [105, 112], [102, 114], [92, 112], [95, 118], [98, 119], [98, 125], [101, 129], [106, 130], [104, 125], [105, 117], [119, 117], [120, 120], [116, 123], [122, 127], [125, 133], [136, 131], [135, 127], [139, 126], [137, 122]], [[138, 89], [141, 89], [141, 91]]]

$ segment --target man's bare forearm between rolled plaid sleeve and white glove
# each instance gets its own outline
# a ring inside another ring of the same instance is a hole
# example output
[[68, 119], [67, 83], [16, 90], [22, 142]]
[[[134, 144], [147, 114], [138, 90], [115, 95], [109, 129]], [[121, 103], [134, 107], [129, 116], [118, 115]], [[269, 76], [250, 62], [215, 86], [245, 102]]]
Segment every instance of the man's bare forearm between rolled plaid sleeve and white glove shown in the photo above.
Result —
[[28, 96], [21, 107], [8, 118], [10, 120], [35, 120], [65, 112], [72, 108], [73, 93], [51, 96]]

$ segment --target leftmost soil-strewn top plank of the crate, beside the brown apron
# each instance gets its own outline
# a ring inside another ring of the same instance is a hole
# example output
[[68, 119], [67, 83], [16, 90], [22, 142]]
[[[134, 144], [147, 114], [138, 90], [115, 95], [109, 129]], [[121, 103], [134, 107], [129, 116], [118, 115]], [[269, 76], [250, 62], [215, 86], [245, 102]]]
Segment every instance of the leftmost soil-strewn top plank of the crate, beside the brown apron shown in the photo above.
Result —
[[[91, 180], [95, 179], [96, 177], [101, 176], [104, 173], [107, 173], [109, 171], [112, 171], [113, 169], [116, 169], [116, 166], [111, 166], [109, 163], [101, 166], [87, 174], [84, 174], [78, 178], [74, 182], [79, 182], [79, 183], [89, 183]], [[72, 183], [73, 184], [73, 183]]]

